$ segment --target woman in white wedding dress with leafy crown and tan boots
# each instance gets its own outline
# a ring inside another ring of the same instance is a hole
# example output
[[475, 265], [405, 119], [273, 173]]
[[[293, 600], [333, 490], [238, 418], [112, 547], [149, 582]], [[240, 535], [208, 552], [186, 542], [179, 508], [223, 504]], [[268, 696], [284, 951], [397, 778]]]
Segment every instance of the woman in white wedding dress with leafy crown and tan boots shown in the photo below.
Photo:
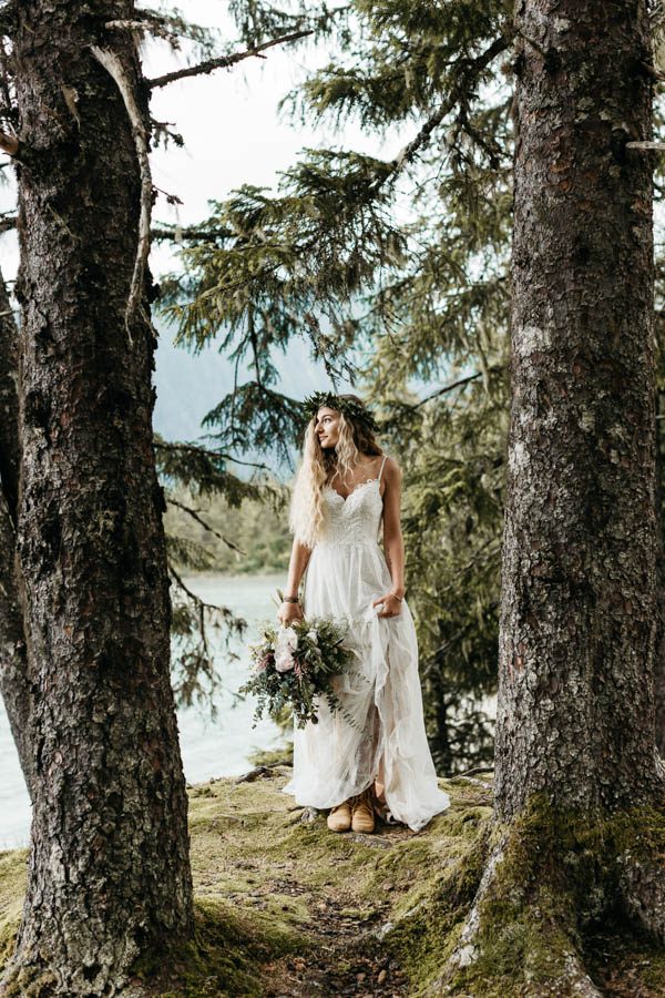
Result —
[[378, 427], [357, 396], [319, 391], [306, 403], [311, 419], [277, 615], [286, 625], [304, 614], [346, 620], [357, 662], [340, 676], [344, 713], [321, 699], [318, 723], [294, 727], [294, 773], [284, 792], [298, 804], [329, 808], [332, 832], [374, 832], [375, 813], [418, 831], [450, 802], [427, 743], [416, 630], [405, 600], [401, 471], [382, 454]]

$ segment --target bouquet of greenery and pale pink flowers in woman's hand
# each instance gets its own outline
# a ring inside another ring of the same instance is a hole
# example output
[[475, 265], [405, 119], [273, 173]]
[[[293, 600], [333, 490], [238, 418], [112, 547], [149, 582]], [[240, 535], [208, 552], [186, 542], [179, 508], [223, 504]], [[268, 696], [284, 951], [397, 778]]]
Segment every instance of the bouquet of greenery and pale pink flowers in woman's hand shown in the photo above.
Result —
[[265, 624], [260, 642], [249, 645], [252, 676], [238, 691], [258, 697], [255, 719], [267, 711], [276, 720], [286, 706], [298, 727], [316, 724], [317, 697], [325, 696], [330, 710], [352, 723], [334, 691], [335, 676], [355, 658], [345, 637], [346, 628], [324, 618], [295, 620], [289, 627]]

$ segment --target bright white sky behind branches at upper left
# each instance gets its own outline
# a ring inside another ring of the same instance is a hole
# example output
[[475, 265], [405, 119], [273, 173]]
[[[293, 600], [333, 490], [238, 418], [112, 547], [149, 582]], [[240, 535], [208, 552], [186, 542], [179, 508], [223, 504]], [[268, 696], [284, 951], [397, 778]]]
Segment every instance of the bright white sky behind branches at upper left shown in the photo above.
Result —
[[[225, 32], [227, 43], [235, 37], [225, 0], [187, 0], [188, 20]], [[296, 162], [305, 146], [344, 145], [381, 154], [375, 138], [359, 128], [347, 126], [344, 134], [320, 128], [304, 131], [286, 116], [278, 116], [279, 100], [308, 68], [328, 62], [331, 50], [314, 43], [298, 50], [279, 47], [268, 50], [265, 59], [246, 59], [229, 70], [216, 70], [206, 77], [192, 77], [153, 91], [151, 112], [158, 121], [173, 123], [185, 140], [185, 149], [170, 145], [152, 154], [153, 183], [176, 194], [182, 205], [170, 206], [160, 195], [153, 221], [202, 221], [211, 198], [223, 200], [243, 183], [273, 186], [276, 174]], [[186, 50], [172, 53], [167, 43], [150, 41], [143, 50], [144, 72], [160, 75], [184, 65]], [[397, 152], [409, 134], [393, 135], [390, 143]], [[10, 171], [6, 171], [10, 173]], [[9, 189], [0, 189], [0, 210], [14, 206], [13, 180]], [[0, 238], [0, 266], [6, 278], [13, 278], [18, 264], [13, 233]], [[171, 269], [173, 257], [165, 245], [155, 246], [151, 259], [155, 277]]]

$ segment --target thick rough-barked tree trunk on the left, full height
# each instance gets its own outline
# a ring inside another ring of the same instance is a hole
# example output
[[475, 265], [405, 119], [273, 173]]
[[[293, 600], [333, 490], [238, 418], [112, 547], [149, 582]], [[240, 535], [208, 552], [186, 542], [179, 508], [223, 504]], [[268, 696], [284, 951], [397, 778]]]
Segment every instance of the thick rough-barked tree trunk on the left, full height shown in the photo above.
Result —
[[146, 108], [133, 34], [105, 28], [133, 3], [94, 10], [21, 3], [14, 38], [18, 551], [37, 745], [7, 980], [68, 996], [121, 992], [137, 955], [193, 929], [146, 278], [130, 302], [142, 173], [129, 110], [145, 126]]

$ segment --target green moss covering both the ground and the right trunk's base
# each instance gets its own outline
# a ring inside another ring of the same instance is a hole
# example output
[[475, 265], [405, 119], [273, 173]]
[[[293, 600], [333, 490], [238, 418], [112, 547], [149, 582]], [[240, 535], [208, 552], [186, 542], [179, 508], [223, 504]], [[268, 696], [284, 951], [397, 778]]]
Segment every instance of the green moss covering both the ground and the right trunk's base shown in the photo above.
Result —
[[[155, 998], [351, 994], [359, 968], [371, 992], [386, 989], [370, 980], [372, 965], [390, 960], [407, 972], [410, 996], [437, 990], [503, 836], [479, 908], [479, 957], [446, 981], [450, 994], [541, 998], [554, 987], [563, 998], [557, 982], [571, 957], [607, 994], [665, 994], [665, 955], [631, 934], [614, 905], [617, 857], [665, 857], [664, 815], [636, 809], [590, 822], [535, 800], [510, 829], [497, 828], [488, 786], [456, 780], [443, 784], [449, 811], [419, 834], [335, 835], [325, 815], [301, 821], [303, 808], [282, 793], [289, 775], [276, 767], [252, 783], [190, 787], [196, 934], [142, 958], [136, 970]], [[24, 851], [0, 854], [0, 967], [24, 877]], [[316, 988], [315, 971], [324, 975]]]

